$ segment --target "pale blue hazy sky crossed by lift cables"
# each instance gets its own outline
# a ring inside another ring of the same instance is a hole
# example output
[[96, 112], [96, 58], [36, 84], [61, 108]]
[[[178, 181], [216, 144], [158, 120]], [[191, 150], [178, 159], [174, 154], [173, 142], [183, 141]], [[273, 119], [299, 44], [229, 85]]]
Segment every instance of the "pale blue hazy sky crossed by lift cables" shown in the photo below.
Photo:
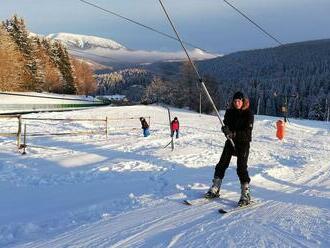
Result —
[[[88, 0], [170, 34], [158, 0]], [[283, 43], [330, 38], [330, 0], [228, 0]], [[163, 0], [182, 39], [217, 53], [276, 46], [222, 0]], [[35, 33], [69, 32], [113, 39], [132, 49], [178, 51], [177, 42], [79, 0], [1, 0]]]

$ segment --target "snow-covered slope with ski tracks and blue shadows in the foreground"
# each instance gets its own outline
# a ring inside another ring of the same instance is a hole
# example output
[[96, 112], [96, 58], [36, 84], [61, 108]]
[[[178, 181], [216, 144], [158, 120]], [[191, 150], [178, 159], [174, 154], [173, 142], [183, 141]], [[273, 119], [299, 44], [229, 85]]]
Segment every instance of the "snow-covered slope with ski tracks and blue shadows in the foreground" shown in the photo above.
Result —
[[[330, 247], [329, 123], [290, 119], [279, 141], [277, 118], [256, 116], [249, 171], [261, 204], [220, 215], [239, 198], [235, 158], [224, 200], [182, 204], [209, 187], [225, 142], [216, 117], [172, 109], [181, 134], [171, 151], [164, 148], [170, 138], [162, 107], [28, 116], [126, 119], [110, 121], [108, 140], [28, 137], [24, 156], [13, 138], [0, 137], [1, 247]], [[147, 138], [139, 116], [151, 117]], [[5, 124], [0, 120], [0, 133]], [[29, 127], [41, 128], [55, 127]]]

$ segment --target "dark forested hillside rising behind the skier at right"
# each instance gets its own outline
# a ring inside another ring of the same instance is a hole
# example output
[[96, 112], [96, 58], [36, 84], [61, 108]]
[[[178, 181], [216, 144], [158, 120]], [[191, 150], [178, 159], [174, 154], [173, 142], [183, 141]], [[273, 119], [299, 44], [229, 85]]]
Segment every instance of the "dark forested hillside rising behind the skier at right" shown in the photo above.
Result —
[[[220, 106], [241, 89], [255, 112], [325, 120], [330, 108], [330, 40], [236, 52], [196, 62], [201, 75], [217, 81]], [[146, 69], [178, 81], [180, 63], [157, 63]], [[207, 82], [206, 82], [206, 85]]]

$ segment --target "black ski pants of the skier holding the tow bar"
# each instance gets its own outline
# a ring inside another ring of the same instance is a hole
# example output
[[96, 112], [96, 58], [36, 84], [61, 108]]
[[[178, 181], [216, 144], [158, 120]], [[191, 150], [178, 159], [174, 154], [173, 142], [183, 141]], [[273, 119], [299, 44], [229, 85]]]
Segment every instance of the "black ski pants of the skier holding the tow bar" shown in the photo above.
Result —
[[237, 143], [235, 149], [229, 140], [226, 141], [219, 163], [215, 167], [214, 177], [223, 179], [232, 156], [237, 156], [237, 175], [241, 183], [250, 183], [247, 161], [250, 143]]

